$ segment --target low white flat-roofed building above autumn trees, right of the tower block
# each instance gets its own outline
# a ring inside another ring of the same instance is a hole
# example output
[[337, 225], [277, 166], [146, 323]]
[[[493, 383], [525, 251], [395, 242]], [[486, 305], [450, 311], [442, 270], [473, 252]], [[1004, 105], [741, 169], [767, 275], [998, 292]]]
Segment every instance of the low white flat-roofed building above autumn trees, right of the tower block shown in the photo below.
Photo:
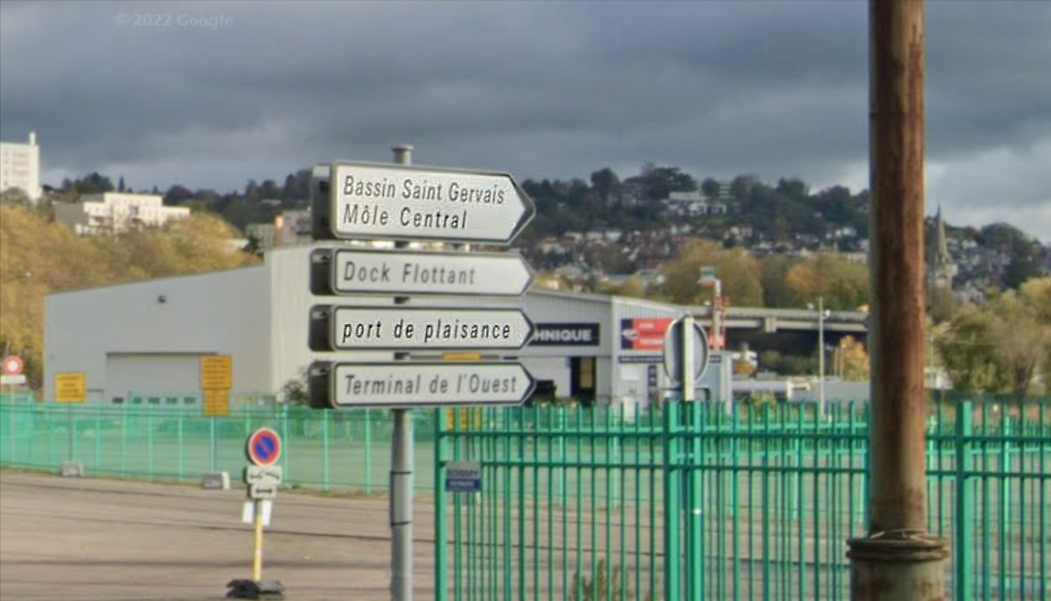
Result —
[[189, 216], [187, 207], [166, 207], [160, 194], [103, 192], [84, 194], [76, 203], [55, 204], [55, 221], [79, 235], [121, 233], [160, 227]]

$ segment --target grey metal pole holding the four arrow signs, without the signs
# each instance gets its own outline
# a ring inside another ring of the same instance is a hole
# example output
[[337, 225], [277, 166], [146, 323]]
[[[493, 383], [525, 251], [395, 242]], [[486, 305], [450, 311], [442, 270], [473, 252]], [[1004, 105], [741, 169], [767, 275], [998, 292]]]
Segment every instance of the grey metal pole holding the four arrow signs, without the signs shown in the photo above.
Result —
[[[395, 146], [394, 163], [412, 164], [412, 146]], [[405, 248], [396, 243], [395, 248]], [[395, 296], [395, 305], [405, 305], [407, 296]], [[395, 360], [405, 353], [396, 353]], [[391, 441], [391, 599], [412, 599], [412, 410], [395, 409], [394, 438]]]

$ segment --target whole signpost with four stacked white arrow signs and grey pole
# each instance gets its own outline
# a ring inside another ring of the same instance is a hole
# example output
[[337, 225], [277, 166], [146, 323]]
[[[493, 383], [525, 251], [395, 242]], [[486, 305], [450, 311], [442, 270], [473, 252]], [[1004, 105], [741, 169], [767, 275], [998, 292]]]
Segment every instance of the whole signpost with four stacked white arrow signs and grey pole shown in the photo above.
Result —
[[[517, 350], [534, 326], [517, 308], [405, 307], [410, 295], [520, 296], [533, 269], [517, 254], [410, 251], [406, 242], [508, 245], [536, 209], [508, 173], [415, 168], [411, 147], [397, 147], [398, 165], [335, 163], [315, 167], [314, 237], [397, 241], [393, 251], [321, 248], [311, 254], [313, 294], [388, 294], [394, 306], [318, 305], [310, 311], [311, 350]], [[325, 181], [325, 174], [328, 180]], [[327, 186], [327, 187], [326, 187]], [[327, 231], [331, 230], [331, 231]], [[412, 598], [412, 421], [408, 409], [521, 405], [533, 376], [511, 361], [315, 361], [310, 403], [315, 408], [394, 409], [391, 452], [391, 597]], [[468, 479], [465, 479], [467, 482]], [[474, 488], [476, 479], [470, 479]], [[468, 483], [463, 484], [465, 486]]]

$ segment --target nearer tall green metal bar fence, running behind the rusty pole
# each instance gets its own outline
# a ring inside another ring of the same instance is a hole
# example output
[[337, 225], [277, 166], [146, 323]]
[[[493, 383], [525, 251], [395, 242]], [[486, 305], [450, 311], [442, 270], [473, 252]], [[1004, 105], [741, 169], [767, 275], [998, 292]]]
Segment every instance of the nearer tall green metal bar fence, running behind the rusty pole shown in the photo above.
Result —
[[[438, 599], [847, 599], [865, 533], [865, 406], [668, 405], [454, 413], [450, 461], [482, 491], [437, 489]], [[465, 422], [467, 427], [465, 426]], [[1051, 599], [1051, 402], [936, 406], [931, 532], [953, 598]]]

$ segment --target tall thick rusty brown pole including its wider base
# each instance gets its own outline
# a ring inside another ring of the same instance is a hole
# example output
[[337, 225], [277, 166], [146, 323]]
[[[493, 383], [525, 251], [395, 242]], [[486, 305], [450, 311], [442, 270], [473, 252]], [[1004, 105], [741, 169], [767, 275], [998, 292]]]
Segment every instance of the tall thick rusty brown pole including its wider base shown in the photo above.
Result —
[[869, 0], [872, 311], [869, 532], [848, 541], [854, 601], [944, 601], [927, 532], [924, 3]]

